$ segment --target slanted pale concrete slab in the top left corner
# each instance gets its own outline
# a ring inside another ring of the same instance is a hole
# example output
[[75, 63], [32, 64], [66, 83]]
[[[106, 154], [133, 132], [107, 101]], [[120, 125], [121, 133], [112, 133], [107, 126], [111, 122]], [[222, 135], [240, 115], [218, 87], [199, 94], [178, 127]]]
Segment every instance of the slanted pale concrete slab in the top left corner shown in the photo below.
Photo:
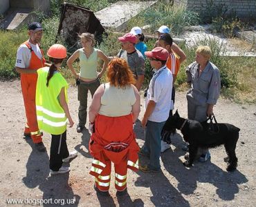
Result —
[[6, 13], [6, 18], [0, 22], [0, 28], [15, 30], [34, 21], [36, 15], [32, 8], [10, 8]]

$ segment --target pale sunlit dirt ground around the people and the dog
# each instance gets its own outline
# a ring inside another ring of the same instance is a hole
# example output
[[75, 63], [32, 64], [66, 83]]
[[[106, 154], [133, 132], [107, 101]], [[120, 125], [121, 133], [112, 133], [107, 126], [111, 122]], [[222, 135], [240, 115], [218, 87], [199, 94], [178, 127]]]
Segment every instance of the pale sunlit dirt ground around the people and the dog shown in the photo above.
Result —
[[[50, 135], [44, 134], [47, 152], [37, 152], [31, 140], [22, 138], [25, 116], [19, 81], [0, 82], [0, 97], [0, 206], [31, 206], [35, 201], [42, 201], [36, 199], [44, 199], [45, 203], [63, 199], [58, 202], [71, 203], [64, 206], [256, 206], [256, 106], [241, 106], [219, 99], [214, 108], [217, 121], [241, 128], [235, 172], [226, 171], [223, 147], [210, 150], [212, 158], [205, 164], [196, 162], [192, 168], [185, 168], [182, 164], [185, 152], [181, 149], [184, 143], [178, 133], [172, 148], [161, 155], [162, 172], [129, 171], [129, 194], [123, 197], [116, 197], [112, 175], [111, 197], [102, 197], [93, 190], [93, 177], [89, 175], [92, 157], [88, 151], [88, 130], [78, 134], [75, 126], [68, 129], [68, 148], [70, 151], [75, 148], [79, 155], [71, 161], [69, 174], [51, 177], [48, 168]], [[69, 88], [68, 97], [71, 115], [77, 121], [75, 87]], [[144, 112], [143, 97], [141, 102], [139, 119]], [[186, 105], [185, 92], [177, 92], [176, 108], [182, 117], [186, 117]], [[144, 130], [140, 121], [135, 130], [138, 144], [142, 146]], [[146, 163], [147, 159], [140, 161]], [[7, 199], [21, 199], [19, 201], [30, 204], [7, 204]], [[75, 204], [72, 204], [74, 200], [66, 199], [75, 199]]]

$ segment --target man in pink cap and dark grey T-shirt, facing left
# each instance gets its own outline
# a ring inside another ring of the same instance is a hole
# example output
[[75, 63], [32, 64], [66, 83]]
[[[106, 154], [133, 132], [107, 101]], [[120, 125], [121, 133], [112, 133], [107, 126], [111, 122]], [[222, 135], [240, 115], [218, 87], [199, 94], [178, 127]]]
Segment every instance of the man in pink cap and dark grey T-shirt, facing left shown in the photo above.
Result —
[[122, 49], [118, 52], [117, 56], [127, 61], [136, 79], [135, 86], [140, 90], [145, 76], [145, 61], [141, 52], [135, 48], [136, 36], [127, 33], [122, 37], [118, 37], [118, 40], [121, 42]]

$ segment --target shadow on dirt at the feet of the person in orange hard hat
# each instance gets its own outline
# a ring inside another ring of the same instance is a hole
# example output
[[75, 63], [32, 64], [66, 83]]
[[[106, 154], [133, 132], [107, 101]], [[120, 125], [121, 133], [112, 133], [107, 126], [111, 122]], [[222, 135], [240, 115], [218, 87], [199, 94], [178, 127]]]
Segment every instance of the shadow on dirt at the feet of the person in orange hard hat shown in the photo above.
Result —
[[[33, 199], [44, 199], [43, 206], [54, 206], [54, 204], [55, 206], [77, 206], [80, 196], [74, 195], [72, 188], [68, 185], [69, 173], [50, 176], [47, 152], [38, 152], [31, 139], [26, 141], [31, 146], [32, 152], [26, 164], [26, 177], [23, 177], [22, 181], [28, 188], [38, 186], [43, 194]], [[69, 164], [64, 164], [64, 166], [69, 166]]]

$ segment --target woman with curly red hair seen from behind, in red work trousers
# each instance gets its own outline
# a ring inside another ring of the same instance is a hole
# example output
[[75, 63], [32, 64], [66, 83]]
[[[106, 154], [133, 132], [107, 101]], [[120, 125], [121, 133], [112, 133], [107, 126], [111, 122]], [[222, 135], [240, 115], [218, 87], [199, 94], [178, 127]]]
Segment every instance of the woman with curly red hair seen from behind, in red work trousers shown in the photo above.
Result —
[[138, 170], [138, 144], [133, 124], [140, 113], [140, 95], [125, 59], [114, 58], [107, 68], [108, 83], [100, 85], [89, 109], [90, 174], [95, 190], [109, 195], [111, 162], [117, 195], [127, 193], [127, 168]]

